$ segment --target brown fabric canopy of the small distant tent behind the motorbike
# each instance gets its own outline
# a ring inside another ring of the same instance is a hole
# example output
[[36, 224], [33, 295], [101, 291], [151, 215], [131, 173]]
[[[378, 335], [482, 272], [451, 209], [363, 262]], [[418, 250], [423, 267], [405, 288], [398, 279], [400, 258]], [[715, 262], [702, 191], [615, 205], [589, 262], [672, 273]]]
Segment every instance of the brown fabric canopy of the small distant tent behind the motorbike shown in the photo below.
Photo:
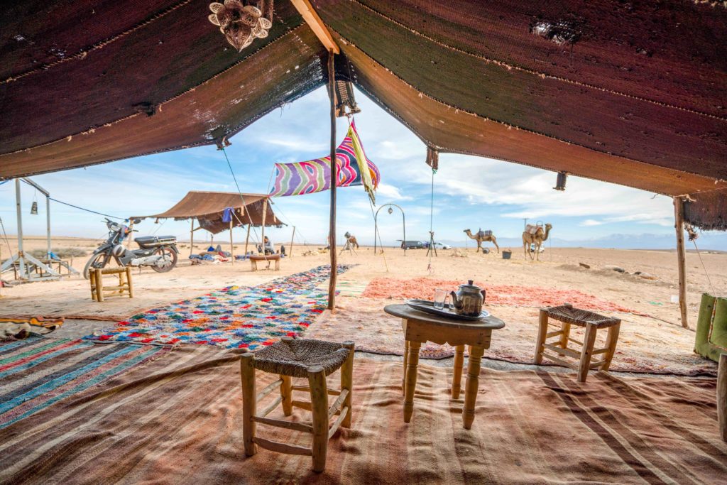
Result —
[[[265, 204], [265, 201], [268, 203]], [[270, 199], [260, 193], [190, 191], [184, 196], [184, 199], [166, 212], [137, 217], [140, 219], [147, 217], [174, 220], [196, 219], [202, 229], [217, 234], [230, 228], [230, 223], [222, 222], [222, 214], [228, 207], [235, 210], [236, 217], [233, 217], [233, 226], [252, 223], [254, 227], [260, 227], [264, 208], [265, 226], [279, 228], [285, 225], [273, 212]]]

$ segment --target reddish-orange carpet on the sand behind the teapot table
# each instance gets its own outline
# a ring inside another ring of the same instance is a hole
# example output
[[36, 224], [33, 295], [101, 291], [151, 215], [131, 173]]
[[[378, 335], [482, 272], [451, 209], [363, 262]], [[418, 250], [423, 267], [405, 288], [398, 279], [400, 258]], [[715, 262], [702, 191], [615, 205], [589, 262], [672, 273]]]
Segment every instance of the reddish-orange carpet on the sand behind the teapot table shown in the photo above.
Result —
[[[364, 291], [367, 298], [390, 298], [406, 300], [419, 298], [433, 300], [437, 288], [454, 289], [462, 281], [433, 278], [374, 278]], [[486, 289], [488, 305], [544, 307], [571, 303], [577, 308], [594, 311], [618, 311], [643, 315], [643, 313], [624, 308], [614, 302], [601, 300], [592, 294], [579, 292], [577, 289], [540, 288], [538, 286], [515, 286], [509, 284], [489, 284], [475, 281], [475, 284]]]

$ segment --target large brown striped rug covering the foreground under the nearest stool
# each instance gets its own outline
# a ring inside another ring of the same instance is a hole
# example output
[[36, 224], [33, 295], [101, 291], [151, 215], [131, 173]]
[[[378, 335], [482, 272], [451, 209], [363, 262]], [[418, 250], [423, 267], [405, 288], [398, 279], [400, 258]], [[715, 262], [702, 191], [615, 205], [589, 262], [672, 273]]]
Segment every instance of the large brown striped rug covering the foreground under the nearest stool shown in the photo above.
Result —
[[[353, 426], [329, 441], [324, 473], [310, 470], [310, 457], [260, 450], [246, 458], [239, 366], [213, 350], [175, 350], [0, 430], [0, 482], [700, 484], [727, 476], [714, 379], [598, 373], [580, 384], [567, 374], [486, 370], [465, 430], [462, 399], [449, 398], [451, 369], [419, 367], [406, 425], [401, 363], [363, 359]], [[271, 378], [261, 376], [259, 389]], [[296, 410], [292, 419], [308, 415]], [[257, 428], [265, 438], [310, 442]]]

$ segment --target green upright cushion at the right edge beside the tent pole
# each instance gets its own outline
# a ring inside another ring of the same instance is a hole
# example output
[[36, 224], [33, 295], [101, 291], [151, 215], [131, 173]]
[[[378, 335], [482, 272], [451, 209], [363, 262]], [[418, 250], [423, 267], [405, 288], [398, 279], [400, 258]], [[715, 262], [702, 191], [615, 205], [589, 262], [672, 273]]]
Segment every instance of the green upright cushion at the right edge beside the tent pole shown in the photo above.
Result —
[[702, 294], [694, 351], [715, 362], [727, 352], [727, 298]]

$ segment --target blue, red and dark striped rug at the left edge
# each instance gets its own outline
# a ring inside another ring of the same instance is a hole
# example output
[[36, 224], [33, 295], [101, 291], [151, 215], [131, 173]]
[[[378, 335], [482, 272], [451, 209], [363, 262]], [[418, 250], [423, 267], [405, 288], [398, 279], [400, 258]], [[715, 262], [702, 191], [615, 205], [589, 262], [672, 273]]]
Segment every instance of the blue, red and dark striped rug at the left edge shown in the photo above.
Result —
[[29, 337], [0, 342], [0, 428], [166, 354], [152, 345]]

